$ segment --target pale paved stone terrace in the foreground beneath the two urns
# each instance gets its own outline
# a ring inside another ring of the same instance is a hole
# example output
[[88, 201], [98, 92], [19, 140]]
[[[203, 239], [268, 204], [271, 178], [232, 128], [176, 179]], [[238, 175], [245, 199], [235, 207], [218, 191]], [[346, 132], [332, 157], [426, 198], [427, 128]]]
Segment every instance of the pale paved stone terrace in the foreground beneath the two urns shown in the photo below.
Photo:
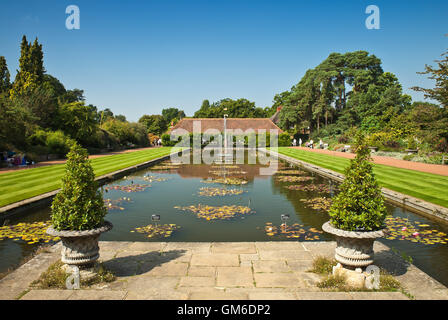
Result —
[[[306, 272], [314, 257], [331, 257], [334, 242], [100, 242], [105, 266], [117, 280], [85, 290], [29, 290], [60, 258], [51, 247], [0, 280], [0, 299], [403, 300], [400, 292], [323, 292]], [[381, 243], [375, 264], [415, 299], [448, 299], [448, 289]]]

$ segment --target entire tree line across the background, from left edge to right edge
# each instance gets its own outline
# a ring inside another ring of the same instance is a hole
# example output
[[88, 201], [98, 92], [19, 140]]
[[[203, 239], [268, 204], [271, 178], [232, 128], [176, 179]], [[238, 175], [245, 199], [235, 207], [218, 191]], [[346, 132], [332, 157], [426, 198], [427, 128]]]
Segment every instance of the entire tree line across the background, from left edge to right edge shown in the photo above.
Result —
[[[413, 102], [381, 60], [367, 51], [331, 53], [309, 69], [290, 90], [276, 94], [272, 106], [257, 107], [247, 99], [204, 100], [194, 118], [265, 118], [282, 107], [278, 125], [290, 135], [310, 133], [339, 143], [362, 130], [371, 145], [394, 148], [407, 143], [448, 152], [448, 57], [422, 74], [433, 89], [413, 87], [439, 104]], [[19, 70], [10, 79], [0, 56], [0, 151], [65, 154], [73, 141], [90, 152], [148, 146], [186, 116], [179, 108], [143, 115], [129, 122], [124, 115], [86, 104], [84, 92], [68, 90], [44, 68], [42, 44], [36, 38], [20, 45]]]

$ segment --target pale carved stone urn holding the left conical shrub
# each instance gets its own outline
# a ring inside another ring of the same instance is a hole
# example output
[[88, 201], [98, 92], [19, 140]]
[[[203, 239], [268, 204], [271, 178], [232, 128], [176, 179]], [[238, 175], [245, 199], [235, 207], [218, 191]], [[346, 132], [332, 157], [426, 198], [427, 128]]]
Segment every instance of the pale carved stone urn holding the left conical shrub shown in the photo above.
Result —
[[61, 238], [63, 263], [69, 266], [88, 267], [92, 266], [100, 256], [98, 246], [100, 234], [111, 230], [112, 227], [112, 223], [104, 221], [102, 226], [85, 231], [57, 231], [50, 226], [47, 233]]

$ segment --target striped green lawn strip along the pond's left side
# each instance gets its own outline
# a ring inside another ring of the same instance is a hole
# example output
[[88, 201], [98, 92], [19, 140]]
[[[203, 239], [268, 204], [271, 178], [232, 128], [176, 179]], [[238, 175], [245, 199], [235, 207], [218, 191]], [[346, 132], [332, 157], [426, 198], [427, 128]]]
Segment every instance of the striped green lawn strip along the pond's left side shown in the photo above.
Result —
[[[92, 159], [96, 176], [169, 155], [170, 147], [147, 149]], [[60, 188], [65, 164], [0, 174], [0, 207]]]

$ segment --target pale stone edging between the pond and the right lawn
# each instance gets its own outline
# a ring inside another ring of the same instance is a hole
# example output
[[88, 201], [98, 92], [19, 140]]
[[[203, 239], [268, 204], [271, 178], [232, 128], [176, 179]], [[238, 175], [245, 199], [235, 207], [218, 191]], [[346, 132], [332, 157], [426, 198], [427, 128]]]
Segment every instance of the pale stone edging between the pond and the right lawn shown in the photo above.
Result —
[[[307, 163], [302, 160], [298, 160], [289, 156], [285, 156], [278, 152], [274, 152], [266, 149], [258, 149], [262, 152], [268, 152], [277, 156], [280, 159], [283, 159], [287, 162], [302, 166], [310, 171], [316, 172], [319, 175], [322, 175], [326, 178], [330, 178], [332, 180], [336, 180], [342, 182], [344, 180], [344, 175], [333, 170], [325, 169], [314, 164]], [[419, 214], [423, 214], [425, 216], [436, 218], [438, 220], [442, 220], [443, 222], [448, 222], [448, 208], [424, 201], [422, 199], [418, 199], [400, 192], [392, 191], [387, 188], [381, 188], [383, 196], [391, 203], [396, 204], [398, 206], [409, 209], [410, 211], [414, 211]]]

